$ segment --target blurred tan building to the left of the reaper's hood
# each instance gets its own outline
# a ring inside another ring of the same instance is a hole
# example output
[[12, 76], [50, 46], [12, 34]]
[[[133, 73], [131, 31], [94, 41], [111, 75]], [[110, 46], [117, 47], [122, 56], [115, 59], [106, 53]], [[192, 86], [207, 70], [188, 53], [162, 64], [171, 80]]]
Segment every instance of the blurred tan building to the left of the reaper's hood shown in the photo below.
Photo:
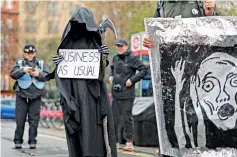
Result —
[[[80, 1], [20, 1], [20, 44], [34, 44], [45, 60], [55, 54], [64, 28]], [[22, 51], [20, 48], [19, 51]]]

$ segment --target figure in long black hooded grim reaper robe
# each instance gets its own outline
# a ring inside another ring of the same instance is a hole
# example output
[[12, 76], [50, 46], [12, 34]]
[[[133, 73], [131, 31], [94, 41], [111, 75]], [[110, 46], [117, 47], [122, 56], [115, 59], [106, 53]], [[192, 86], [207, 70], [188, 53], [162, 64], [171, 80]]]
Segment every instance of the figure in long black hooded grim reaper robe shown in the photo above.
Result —
[[[69, 20], [59, 49], [101, 49], [99, 26], [91, 11], [79, 8]], [[113, 119], [104, 83], [104, 59], [98, 79], [59, 78], [57, 66], [52, 73], [61, 94], [61, 105], [68, 144], [69, 157], [117, 157]], [[52, 76], [51, 74], [51, 76]], [[103, 119], [107, 117], [107, 130]], [[107, 134], [111, 152], [106, 149]]]

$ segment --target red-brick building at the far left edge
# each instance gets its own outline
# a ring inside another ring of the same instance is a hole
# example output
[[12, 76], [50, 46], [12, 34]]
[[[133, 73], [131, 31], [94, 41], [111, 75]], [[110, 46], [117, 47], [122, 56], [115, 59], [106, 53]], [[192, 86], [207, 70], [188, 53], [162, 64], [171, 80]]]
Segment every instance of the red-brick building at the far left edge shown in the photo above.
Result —
[[14, 96], [12, 87], [14, 81], [10, 79], [10, 70], [14, 60], [19, 57], [18, 1], [1, 1], [1, 95]]

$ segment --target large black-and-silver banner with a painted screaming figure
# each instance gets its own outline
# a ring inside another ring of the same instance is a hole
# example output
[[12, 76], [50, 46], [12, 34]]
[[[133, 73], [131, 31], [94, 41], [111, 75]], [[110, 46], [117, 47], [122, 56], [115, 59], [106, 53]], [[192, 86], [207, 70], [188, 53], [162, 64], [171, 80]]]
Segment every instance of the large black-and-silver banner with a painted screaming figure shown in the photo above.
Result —
[[146, 18], [145, 27], [161, 153], [237, 148], [237, 17]]

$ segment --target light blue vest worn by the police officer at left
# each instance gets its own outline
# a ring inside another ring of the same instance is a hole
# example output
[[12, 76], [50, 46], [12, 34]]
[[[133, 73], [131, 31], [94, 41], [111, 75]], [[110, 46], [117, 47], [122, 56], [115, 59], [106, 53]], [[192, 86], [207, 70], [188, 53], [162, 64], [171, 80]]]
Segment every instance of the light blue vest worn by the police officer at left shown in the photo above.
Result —
[[[24, 59], [19, 59], [17, 61], [18, 65], [20, 66], [20, 68], [25, 68], [25, 67], [29, 67], [27, 64], [23, 64], [25, 62]], [[38, 63], [37, 63], [38, 62]], [[35, 69], [39, 70], [39, 71], [43, 71], [43, 67], [44, 67], [44, 61], [40, 60], [40, 59], [36, 59], [36, 66]], [[24, 74], [23, 76], [21, 76], [18, 80], [18, 85], [22, 88], [22, 89], [27, 89], [31, 86], [31, 84], [33, 83], [36, 88], [38, 89], [43, 89], [44, 88], [44, 82], [39, 81], [37, 78], [32, 77], [29, 73]]]

